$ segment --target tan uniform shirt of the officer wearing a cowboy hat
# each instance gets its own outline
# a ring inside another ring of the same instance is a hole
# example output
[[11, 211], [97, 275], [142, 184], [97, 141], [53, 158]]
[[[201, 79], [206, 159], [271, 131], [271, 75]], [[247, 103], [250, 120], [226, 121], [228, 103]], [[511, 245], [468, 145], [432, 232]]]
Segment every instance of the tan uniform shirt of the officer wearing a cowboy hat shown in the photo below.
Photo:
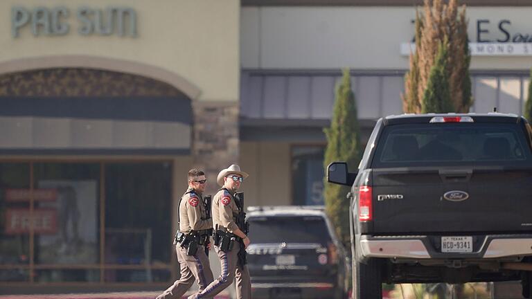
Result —
[[238, 216], [238, 206], [236, 206], [235, 198], [229, 191], [222, 189], [218, 191], [213, 198], [213, 223], [218, 229], [227, 229], [229, 233], [233, 233], [238, 226], [236, 225], [236, 217]]

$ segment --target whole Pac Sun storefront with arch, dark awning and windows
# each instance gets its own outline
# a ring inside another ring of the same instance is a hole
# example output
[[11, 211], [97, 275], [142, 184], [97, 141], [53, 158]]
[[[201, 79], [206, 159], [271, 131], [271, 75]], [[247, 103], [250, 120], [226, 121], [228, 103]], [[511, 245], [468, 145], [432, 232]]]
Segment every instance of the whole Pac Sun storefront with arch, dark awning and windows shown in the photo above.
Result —
[[187, 171], [238, 161], [239, 1], [0, 11], [0, 293], [162, 289]]

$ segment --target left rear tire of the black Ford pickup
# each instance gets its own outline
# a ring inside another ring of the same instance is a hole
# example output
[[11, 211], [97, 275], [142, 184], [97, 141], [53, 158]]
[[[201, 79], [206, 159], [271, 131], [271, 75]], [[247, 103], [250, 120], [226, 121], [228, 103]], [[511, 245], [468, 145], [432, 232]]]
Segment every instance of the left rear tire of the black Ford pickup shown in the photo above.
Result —
[[382, 299], [382, 261], [353, 263], [353, 299]]

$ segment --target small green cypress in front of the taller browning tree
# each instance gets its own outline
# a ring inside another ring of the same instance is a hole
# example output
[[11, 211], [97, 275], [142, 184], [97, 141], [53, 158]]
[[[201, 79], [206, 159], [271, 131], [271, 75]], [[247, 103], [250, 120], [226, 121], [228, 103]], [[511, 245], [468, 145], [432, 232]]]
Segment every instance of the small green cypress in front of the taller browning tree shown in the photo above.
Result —
[[423, 94], [421, 113], [447, 113], [454, 111], [449, 90], [446, 40], [438, 46], [438, 55], [429, 74], [427, 89]]

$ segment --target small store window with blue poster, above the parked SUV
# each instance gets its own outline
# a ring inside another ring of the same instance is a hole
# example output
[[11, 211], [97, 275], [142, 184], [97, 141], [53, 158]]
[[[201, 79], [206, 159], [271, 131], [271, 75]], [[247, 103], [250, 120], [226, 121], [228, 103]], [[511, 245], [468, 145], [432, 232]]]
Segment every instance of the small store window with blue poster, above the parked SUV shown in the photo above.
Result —
[[323, 205], [322, 145], [292, 147], [292, 196], [294, 205]]

